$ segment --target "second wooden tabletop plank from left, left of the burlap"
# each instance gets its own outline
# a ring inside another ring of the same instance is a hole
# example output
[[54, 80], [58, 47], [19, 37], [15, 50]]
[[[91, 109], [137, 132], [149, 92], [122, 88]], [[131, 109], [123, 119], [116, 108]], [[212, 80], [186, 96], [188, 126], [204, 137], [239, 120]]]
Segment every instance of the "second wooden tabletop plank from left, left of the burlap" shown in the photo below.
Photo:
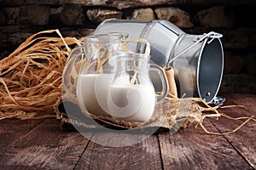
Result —
[[2, 169], [73, 169], [89, 140], [47, 119], [0, 156]]

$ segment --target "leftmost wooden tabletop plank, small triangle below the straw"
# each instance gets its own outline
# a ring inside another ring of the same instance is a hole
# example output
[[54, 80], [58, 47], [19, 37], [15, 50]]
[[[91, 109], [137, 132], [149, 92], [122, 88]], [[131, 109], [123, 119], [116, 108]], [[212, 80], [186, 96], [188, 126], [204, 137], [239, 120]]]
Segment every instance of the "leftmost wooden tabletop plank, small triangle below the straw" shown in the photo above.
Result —
[[43, 120], [3, 119], [0, 121], [0, 155]]

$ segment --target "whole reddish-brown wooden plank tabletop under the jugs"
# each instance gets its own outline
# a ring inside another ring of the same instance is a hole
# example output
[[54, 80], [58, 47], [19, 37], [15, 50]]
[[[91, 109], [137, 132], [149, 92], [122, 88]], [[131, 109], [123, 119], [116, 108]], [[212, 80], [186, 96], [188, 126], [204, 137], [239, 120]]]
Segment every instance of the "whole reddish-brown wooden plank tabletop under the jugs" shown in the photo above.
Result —
[[[256, 95], [224, 96], [225, 105], [246, 108], [219, 111], [234, 117], [256, 116]], [[221, 117], [208, 118], [204, 124], [222, 133], [243, 121]], [[0, 169], [256, 169], [255, 129], [253, 121], [227, 135], [189, 127], [174, 134], [157, 133], [131, 146], [109, 147], [76, 131], [62, 131], [54, 119], [6, 119], [0, 122]]]

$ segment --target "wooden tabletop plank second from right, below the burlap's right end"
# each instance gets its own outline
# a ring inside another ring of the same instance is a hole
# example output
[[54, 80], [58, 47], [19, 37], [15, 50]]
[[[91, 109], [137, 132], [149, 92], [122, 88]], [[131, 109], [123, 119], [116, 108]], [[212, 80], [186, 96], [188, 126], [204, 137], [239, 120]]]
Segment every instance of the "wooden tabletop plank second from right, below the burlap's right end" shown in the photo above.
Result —
[[[204, 124], [216, 132], [211, 122]], [[165, 169], [251, 169], [223, 136], [206, 134], [200, 127], [160, 133], [159, 140]]]

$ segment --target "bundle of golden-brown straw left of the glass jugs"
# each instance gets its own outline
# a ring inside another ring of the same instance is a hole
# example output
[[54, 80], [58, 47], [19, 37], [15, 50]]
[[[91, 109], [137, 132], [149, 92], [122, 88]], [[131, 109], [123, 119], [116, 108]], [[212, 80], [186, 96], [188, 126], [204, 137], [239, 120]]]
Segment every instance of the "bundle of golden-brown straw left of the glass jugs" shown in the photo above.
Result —
[[[58, 37], [51, 36], [57, 33]], [[0, 62], [0, 119], [55, 117], [61, 97], [61, 77], [74, 37], [58, 30], [41, 31], [26, 39]]]

